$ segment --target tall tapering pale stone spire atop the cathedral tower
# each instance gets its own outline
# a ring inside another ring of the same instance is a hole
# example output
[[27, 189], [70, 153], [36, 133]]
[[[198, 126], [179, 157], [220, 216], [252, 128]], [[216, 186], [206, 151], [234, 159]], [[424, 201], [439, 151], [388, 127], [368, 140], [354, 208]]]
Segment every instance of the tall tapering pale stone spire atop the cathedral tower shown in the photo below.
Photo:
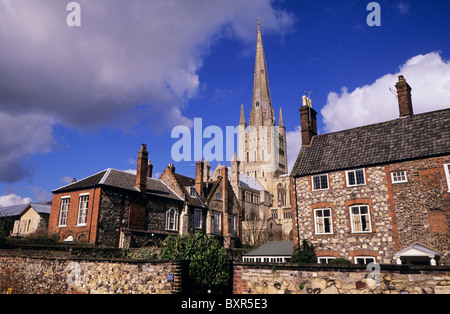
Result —
[[255, 77], [253, 85], [253, 103], [250, 125], [274, 125], [275, 119], [270, 98], [269, 79], [266, 58], [261, 36], [261, 23], [258, 20], [258, 37], [256, 42]]

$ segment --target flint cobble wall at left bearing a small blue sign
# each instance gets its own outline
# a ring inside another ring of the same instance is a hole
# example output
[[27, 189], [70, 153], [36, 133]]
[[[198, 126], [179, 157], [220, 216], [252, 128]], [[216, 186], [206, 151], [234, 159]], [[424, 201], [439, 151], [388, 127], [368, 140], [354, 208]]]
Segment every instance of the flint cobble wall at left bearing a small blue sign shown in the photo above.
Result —
[[178, 294], [180, 261], [125, 261], [0, 255], [0, 294]]

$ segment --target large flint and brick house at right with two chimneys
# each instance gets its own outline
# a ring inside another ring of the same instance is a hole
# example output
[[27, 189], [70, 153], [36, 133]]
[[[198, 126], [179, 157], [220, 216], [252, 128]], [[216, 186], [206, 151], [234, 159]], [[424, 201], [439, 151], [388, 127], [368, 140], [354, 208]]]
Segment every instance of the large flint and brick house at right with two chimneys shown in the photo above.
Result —
[[321, 135], [304, 97], [294, 245], [313, 243], [319, 263], [450, 262], [450, 109], [414, 115], [403, 76], [396, 87], [399, 119]]

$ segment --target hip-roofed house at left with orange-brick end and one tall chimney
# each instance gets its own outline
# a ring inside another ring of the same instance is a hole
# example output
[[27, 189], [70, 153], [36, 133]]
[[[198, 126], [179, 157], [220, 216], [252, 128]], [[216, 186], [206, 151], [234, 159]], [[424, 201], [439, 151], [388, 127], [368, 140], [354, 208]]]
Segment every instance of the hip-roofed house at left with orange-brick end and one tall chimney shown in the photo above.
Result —
[[52, 191], [49, 233], [102, 247], [157, 244], [178, 234], [184, 199], [153, 179], [152, 168], [142, 145], [136, 175], [106, 169]]

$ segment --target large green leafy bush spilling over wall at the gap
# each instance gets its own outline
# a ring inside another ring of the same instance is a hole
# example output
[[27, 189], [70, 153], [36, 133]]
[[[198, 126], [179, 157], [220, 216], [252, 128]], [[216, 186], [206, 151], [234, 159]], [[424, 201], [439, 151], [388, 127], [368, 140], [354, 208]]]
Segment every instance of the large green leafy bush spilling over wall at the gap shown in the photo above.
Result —
[[170, 236], [162, 242], [160, 258], [189, 260], [190, 277], [198, 286], [223, 285], [230, 280], [223, 243], [203, 234]]

